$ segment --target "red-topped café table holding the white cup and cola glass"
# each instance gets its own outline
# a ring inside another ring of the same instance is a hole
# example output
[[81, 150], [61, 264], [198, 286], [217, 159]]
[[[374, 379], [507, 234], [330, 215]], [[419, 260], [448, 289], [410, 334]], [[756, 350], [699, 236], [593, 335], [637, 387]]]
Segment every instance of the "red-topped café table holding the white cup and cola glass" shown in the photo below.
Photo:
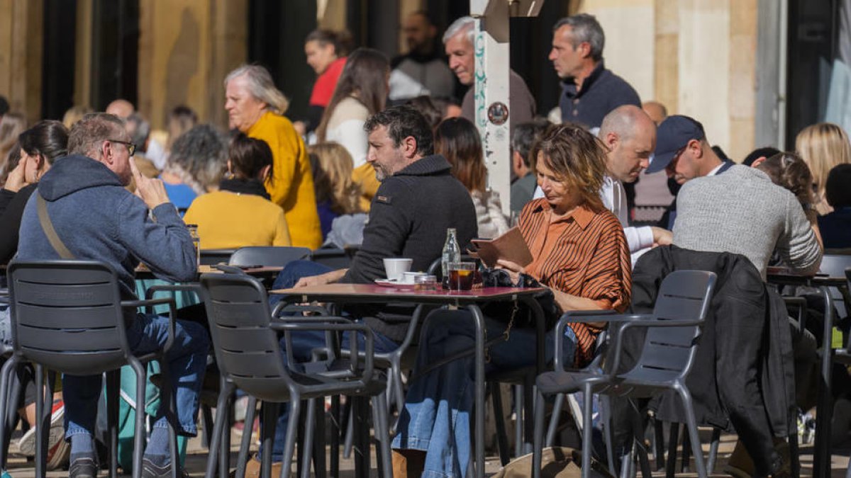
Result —
[[476, 432], [476, 475], [484, 475], [484, 363], [485, 337], [484, 316], [480, 305], [491, 302], [517, 301], [527, 304], [533, 310], [537, 327], [536, 367], [538, 373], [544, 371], [545, 317], [540, 304], [534, 299], [543, 288], [483, 287], [468, 291], [438, 289], [436, 291], [403, 290], [393, 287], [381, 287], [372, 284], [323, 284], [296, 289], [272, 290], [271, 294], [287, 296], [285, 300], [294, 302], [330, 302], [342, 304], [438, 304], [469, 310], [476, 322], [476, 361], [475, 361], [475, 432]]

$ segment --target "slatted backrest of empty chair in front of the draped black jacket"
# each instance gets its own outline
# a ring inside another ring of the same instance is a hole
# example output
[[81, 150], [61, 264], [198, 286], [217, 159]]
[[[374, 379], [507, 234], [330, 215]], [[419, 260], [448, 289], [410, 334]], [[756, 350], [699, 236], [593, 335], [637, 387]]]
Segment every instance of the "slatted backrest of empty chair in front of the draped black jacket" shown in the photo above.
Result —
[[[654, 306], [657, 321], [703, 322], [715, 287], [716, 275], [705, 270], [676, 270], [662, 281]], [[631, 373], [665, 371], [671, 378], [688, 374], [697, 350], [700, 325], [650, 327], [642, 354]]]

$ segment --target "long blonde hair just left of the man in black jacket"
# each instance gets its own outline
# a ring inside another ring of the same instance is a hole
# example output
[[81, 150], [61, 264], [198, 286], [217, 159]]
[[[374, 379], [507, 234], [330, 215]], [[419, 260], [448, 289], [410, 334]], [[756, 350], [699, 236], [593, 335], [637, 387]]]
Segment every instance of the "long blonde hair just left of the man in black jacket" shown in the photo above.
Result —
[[307, 148], [313, 163], [313, 185], [317, 202], [328, 201], [338, 214], [360, 212], [361, 186], [351, 179], [349, 151], [337, 143], [319, 143]]

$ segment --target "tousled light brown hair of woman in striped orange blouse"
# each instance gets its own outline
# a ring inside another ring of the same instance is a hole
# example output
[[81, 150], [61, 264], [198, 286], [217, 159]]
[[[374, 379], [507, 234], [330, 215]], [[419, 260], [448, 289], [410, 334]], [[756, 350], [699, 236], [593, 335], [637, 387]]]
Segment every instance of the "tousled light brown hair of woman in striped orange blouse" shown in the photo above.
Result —
[[558, 180], [580, 192], [587, 208], [603, 209], [600, 188], [606, 174], [606, 153], [599, 139], [584, 128], [553, 124], [529, 151], [534, 157], [538, 153]]

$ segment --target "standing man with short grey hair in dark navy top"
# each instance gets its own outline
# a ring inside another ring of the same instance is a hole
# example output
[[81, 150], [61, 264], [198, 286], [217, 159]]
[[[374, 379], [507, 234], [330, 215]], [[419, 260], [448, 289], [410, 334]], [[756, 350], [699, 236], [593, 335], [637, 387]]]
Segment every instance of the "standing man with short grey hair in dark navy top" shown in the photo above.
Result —
[[636, 90], [603, 65], [603, 27], [590, 14], [558, 20], [552, 29], [550, 61], [562, 78], [562, 121], [598, 128], [620, 105], [641, 107]]

